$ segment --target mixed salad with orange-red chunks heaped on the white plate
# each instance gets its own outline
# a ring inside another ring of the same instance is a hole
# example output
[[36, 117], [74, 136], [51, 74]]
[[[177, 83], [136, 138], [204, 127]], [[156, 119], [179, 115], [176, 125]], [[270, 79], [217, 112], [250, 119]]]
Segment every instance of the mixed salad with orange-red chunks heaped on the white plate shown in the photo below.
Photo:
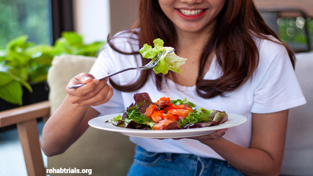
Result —
[[132, 103], [123, 115], [106, 121], [115, 126], [143, 130], [177, 130], [209, 127], [228, 120], [225, 111], [196, 109], [196, 105], [183, 100], [162, 97], [152, 102], [148, 93], [134, 94]]

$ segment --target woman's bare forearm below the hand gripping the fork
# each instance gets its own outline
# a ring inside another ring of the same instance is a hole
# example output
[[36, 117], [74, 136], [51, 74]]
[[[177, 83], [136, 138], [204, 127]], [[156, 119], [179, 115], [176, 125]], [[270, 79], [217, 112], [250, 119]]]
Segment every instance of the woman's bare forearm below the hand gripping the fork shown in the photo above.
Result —
[[61, 154], [75, 141], [88, 109], [89, 106], [72, 104], [65, 98], [45, 123], [41, 147], [46, 155]]

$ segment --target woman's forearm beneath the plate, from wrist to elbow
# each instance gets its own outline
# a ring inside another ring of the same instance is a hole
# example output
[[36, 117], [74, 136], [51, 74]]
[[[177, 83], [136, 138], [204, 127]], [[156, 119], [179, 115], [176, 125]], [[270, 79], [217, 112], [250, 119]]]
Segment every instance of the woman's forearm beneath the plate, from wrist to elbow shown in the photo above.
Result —
[[[220, 154], [229, 164], [248, 176], [278, 176], [279, 162], [265, 151], [238, 146], [225, 138], [202, 142]], [[275, 164], [276, 163], [276, 164]]]

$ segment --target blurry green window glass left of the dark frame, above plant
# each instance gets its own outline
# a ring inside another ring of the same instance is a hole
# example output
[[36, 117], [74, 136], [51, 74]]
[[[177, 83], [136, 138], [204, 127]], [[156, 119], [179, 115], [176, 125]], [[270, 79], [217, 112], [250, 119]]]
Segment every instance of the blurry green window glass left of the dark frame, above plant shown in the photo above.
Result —
[[1, 0], [0, 47], [21, 35], [36, 44], [52, 44], [50, 0]]

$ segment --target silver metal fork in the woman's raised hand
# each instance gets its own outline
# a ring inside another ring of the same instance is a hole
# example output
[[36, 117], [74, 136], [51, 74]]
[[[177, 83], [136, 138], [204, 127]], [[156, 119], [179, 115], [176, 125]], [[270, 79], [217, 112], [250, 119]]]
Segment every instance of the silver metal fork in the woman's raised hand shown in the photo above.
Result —
[[[171, 53], [171, 52], [174, 52], [174, 50], [175, 50], [175, 49], [169, 51], [168, 54]], [[103, 77], [99, 78], [99, 81], [102, 81], [102, 80], [104, 80], [104, 79], [106, 79], [106, 78], [109, 78], [109, 77], [111, 77], [111, 76], [114, 76], [114, 75], [116, 75], [116, 74], [118, 74], [118, 73], [121, 73], [121, 72], [124, 72], [124, 71], [127, 71], [127, 70], [132, 70], [132, 69], [143, 69], [143, 70], [145, 70], [145, 69], [151, 69], [151, 68], [153, 68], [154, 66], [157, 65], [157, 63], [160, 61], [161, 56], [162, 56], [164, 53], [165, 53], [165, 51], [161, 51], [161, 52], [158, 53], [154, 58], [152, 58], [152, 61], [150, 61], [148, 64], [146, 64], [146, 65], [144, 65], [144, 66], [133, 67], [133, 68], [126, 68], [126, 69], [117, 71], [117, 72], [115, 72], [115, 73], [112, 73], [112, 74], [103, 76]], [[81, 86], [83, 86], [83, 85], [84, 85], [84, 84], [78, 84], [78, 85], [75, 85], [75, 86], [71, 86], [71, 87], [69, 87], [69, 88], [79, 88], [79, 87], [81, 87]]]

